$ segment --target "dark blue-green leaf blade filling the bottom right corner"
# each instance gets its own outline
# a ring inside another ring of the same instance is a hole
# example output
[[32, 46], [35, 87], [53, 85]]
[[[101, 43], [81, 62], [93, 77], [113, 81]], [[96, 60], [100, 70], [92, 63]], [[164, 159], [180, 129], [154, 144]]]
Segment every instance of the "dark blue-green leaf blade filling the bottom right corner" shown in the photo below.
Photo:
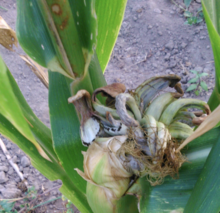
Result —
[[220, 139], [213, 146], [185, 208], [190, 212], [220, 211]]

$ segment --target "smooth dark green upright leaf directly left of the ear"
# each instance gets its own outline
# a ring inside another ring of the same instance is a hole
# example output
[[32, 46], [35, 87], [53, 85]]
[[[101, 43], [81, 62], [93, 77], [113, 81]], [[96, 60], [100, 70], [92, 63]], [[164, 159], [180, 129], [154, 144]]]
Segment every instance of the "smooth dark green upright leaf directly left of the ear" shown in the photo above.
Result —
[[69, 177], [83, 193], [86, 192], [86, 181], [74, 168], [83, 170], [83, 155], [86, 151], [79, 134], [79, 119], [72, 104], [69, 84], [64, 76], [49, 72], [49, 108], [51, 130], [55, 151]]

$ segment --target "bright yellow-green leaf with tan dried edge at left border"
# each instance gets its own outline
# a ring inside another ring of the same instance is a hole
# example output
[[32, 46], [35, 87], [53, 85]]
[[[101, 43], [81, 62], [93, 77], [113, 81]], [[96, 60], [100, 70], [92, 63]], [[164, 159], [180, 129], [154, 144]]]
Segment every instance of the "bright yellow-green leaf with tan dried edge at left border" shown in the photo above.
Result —
[[[7, 89], [6, 89], [7, 88]], [[50, 133], [47, 127], [43, 130], [47, 142], [42, 142], [42, 125], [24, 100], [15, 80], [0, 57], [0, 112], [4, 117], [34, 146], [42, 156], [50, 160], [57, 160], [50, 142]], [[33, 117], [32, 117], [33, 116]], [[43, 125], [44, 126], [44, 125]], [[39, 143], [38, 143], [39, 142]], [[42, 143], [41, 143], [42, 142]]]

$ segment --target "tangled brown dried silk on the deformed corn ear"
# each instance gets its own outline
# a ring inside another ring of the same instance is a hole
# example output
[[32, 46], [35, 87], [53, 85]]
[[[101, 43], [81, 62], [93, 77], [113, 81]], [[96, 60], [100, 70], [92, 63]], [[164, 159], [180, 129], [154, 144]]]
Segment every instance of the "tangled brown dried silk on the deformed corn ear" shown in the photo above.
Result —
[[[145, 132], [144, 135], [144, 139], [147, 140], [147, 133]], [[157, 139], [156, 141], [158, 142]], [[130, 128], [128, 131], [128, 139], [122, 144], [117, 155], [123, 156], [125, 159], [127, 155], [133, 156], [140, 164], [140, 167], [144, 168], [140, 171], [139, 176], [146, 176], [150, 184], [155, 186], [162, 184], [166, 176], [178, 178], [179, 168], [186, 161], [186, 157], [183, 156], [181, 152], [175, 152], [181, 143], [182, 141], [171, 138], [171, 140], [167, 141], [167, 147], [164, 150], [158, 150], [154, 157], [147, 156], [137, 143], [133, 129]], [[124, 167], [130, 170], [126, 163]]]

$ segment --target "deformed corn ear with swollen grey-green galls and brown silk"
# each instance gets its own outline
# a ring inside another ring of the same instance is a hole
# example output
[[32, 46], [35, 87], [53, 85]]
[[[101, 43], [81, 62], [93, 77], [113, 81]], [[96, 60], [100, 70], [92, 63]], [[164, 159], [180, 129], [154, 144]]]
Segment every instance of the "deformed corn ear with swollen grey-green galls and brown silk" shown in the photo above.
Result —
[[[100, 212], [104, 202], [108, 209], [106, 211], [116, 212], [118, 200], [128, 192], [136, 178], [147, 176], [152, 185], [157, 185], [165, 176], [178, 173], [185, 158], [175, 150], [182, 139], [193, 133], [192, 127], [183, 123], [183, 120], [187, 117], [186, 120], [192, 124], [196, 117], [187, 109], [199, 108], [203, 110], [201, 115], [210, 113], [205, 102], [178, 100], [183, 95], [179, 80], [178, 76], [173, 75], [152, 78], [130, 94], [124, 93], [124, 89], [118, 91], [117, 85], [94, 92], [90, 104], [95, 111], [91, 107], [87, 107], [87, 110], [90, 117], [96, 120], [99, 130], [94, 136], [91, 133], [93, 128], [81, 119], [81, 129], [93, 136], [92, 140], [87, 141], [87, 152], [83, 153], [84, 173], [76, 169], [88, 182], [87, 198], [94, 212]], [[164, 93], [153, 99], [168, 86], [175, 87], [176, 92]], [[99, 92], [107, 97], [106, 105], [96, 98]], [[73, 104], [76, 108], [82, 106], [84, 109], [82, 104]], [[85, 112], [79, 112], [82, 118]], [[82, 134], [81, 139], [84, 140]], [[99, 196], [100, 205], [92, 196], [91, 189]]]

